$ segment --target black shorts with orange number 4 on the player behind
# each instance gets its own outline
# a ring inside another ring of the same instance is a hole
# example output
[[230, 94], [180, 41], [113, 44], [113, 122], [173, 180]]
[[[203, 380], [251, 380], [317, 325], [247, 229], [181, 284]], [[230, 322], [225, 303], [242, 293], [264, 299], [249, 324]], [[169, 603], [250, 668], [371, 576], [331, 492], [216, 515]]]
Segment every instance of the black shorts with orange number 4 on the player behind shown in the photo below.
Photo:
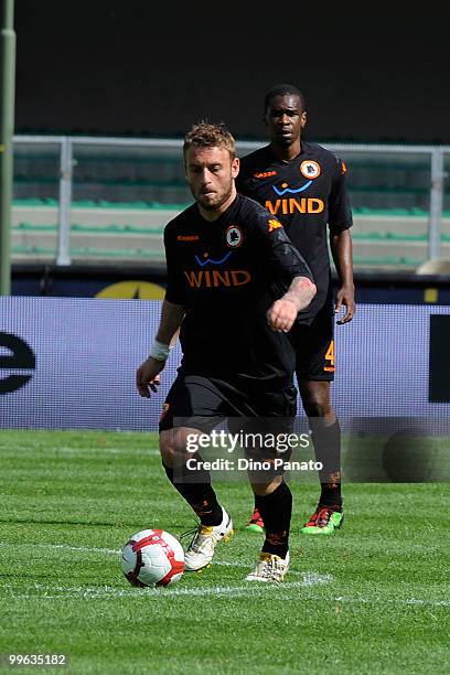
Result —
[[333, 382], [334, 309], [329, 302], [309, 325], [296, 323], [291, 330], [297, 354], [298, 379]]

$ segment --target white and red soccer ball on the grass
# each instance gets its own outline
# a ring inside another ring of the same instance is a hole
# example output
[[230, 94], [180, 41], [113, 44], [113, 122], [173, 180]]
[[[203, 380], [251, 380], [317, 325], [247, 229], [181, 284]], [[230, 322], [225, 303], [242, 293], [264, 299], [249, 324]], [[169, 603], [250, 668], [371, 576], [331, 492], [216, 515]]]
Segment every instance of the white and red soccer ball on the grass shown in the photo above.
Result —
[[184, 571], [184, 550], [164, 529], [142, 529], [122, 548], [122, 569], [132, 586], [169, 586]]

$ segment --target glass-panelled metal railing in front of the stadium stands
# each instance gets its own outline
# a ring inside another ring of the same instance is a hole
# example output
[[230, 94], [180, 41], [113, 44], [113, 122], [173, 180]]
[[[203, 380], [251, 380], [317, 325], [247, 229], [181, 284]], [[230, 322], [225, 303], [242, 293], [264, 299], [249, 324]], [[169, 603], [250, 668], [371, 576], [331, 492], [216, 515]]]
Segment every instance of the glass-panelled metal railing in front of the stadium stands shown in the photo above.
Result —
[[[265, 141], [238, 141], [240, 156]], [[360, 269], [450, 258], [450, 147], [323, 143], [349, 165]], [[13, 261], [164, 262], [191, 203], [180, 139], [14, 137]]]

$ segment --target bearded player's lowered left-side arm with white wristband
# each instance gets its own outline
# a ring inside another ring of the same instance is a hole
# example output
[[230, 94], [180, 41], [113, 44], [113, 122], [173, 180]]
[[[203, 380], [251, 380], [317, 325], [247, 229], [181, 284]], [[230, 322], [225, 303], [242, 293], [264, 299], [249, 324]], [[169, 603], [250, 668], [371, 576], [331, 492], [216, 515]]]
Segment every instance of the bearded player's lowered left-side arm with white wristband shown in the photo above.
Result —
[[150, 398], [160, 384], [159, 374], [165, 366], [171, 347], [176, 342], [178, 331], [183, 321], [185, 309], [164, 300], [162, 303], [160, 325], [150, 350], [150, 355], [136, 372], [136, 386], [139, 395]]

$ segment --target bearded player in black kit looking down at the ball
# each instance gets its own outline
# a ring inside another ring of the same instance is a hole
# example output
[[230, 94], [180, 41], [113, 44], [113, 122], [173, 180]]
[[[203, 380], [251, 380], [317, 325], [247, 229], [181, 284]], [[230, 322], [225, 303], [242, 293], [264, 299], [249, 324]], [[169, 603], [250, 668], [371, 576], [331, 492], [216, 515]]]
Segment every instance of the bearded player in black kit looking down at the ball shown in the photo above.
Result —
[[[239, 160], [223, 125], [195, 125], [183, 154], [195, 203], [164, 229], [168, 287], [137, 387], [143, 397], [156, 390], [180, 329], [183, 357], [160, 421], [160, 451], [169, 480], [200, 518], [185, 553], [185, 569], [196, 571], [233, 534], [233, 523], [207, 468], [189, 453], [188, 436], [207, 433], [224, 418], [253, 419], [259, 431], [292, 428], [296, 354], [289, 331], [315, 286], [280, 222], [236, 193]], [[266, 539], [247, 580], [281, 581], [289, 567], [292, 495], [282, 472], [249, 478]]]

